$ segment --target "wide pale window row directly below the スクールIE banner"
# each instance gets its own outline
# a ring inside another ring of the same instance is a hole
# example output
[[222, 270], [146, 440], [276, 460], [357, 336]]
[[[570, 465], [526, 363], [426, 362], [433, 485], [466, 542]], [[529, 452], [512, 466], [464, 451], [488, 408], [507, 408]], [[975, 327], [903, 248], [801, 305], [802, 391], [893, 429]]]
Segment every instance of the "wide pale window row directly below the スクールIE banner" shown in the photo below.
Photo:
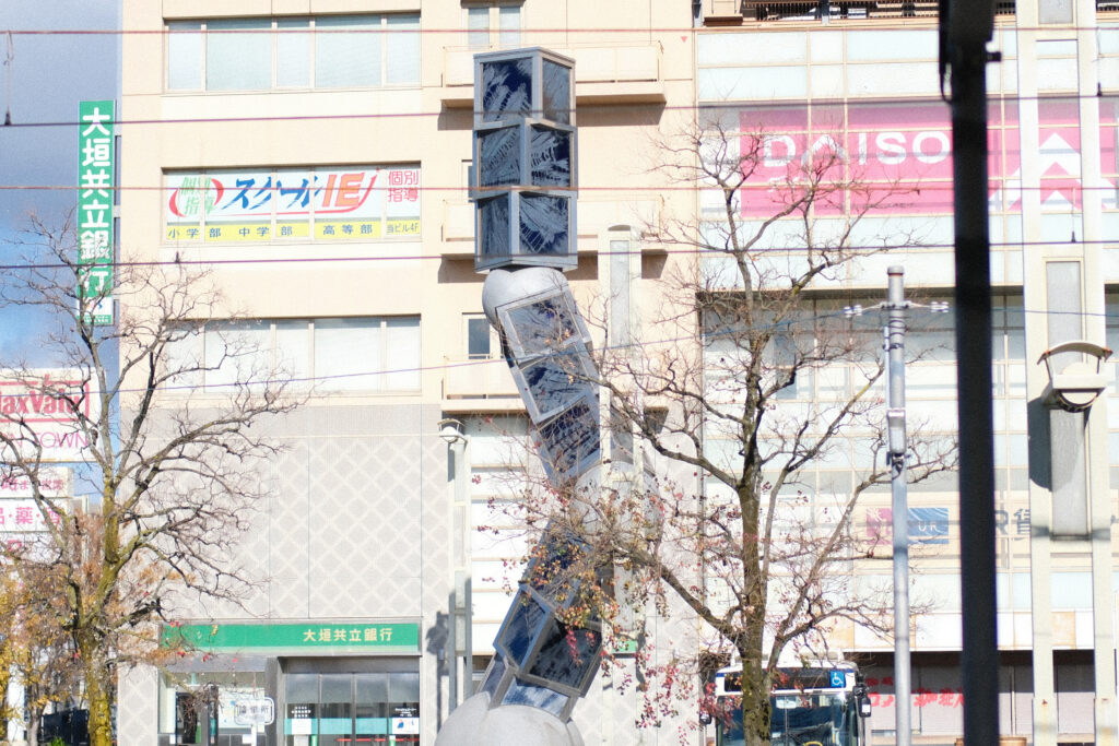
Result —
[[213, 393], [288, 381], [318, 393], [420, 390], [420, 317], [207, 321], [168, 356], [171, 385]]

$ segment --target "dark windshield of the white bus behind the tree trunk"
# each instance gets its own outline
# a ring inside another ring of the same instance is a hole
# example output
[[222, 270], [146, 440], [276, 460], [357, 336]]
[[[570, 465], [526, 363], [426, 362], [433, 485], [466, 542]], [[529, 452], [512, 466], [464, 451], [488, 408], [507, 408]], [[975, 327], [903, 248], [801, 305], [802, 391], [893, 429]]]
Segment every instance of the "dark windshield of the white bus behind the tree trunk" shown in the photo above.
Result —
[[[773, 746], [858, 746], [856, 716], [841, 692], [775, 695], [770, 705]], [[742, 710], [720, 730], [721, 746], [745, 746]]]

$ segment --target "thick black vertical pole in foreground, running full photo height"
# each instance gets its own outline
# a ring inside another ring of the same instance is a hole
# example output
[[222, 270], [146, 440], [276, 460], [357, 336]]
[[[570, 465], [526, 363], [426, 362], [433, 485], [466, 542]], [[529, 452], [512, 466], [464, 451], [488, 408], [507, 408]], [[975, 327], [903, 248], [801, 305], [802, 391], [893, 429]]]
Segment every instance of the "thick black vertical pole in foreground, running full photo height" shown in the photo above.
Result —
[[[990, 34], [976, 32], [976, 28], [959, 32], [959, 22], [965, 18], [975, 20], [977, 13], [991, 11], [961, 0], [951, 0], [951, 6], [949, 13], [956, 21], [949, 37], [949, 62], [956, 199], [963, 743], [994, 746], [998, 743], [998, 643], [987, 187], [986, 41]], [[990, 18], [986, 20], [989, 29]]]

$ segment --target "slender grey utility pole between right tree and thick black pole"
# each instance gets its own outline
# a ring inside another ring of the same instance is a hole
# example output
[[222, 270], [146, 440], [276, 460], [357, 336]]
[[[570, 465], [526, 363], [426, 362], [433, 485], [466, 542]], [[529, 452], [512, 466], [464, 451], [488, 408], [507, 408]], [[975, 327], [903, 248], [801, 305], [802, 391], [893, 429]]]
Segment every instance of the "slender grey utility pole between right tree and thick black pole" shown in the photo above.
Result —
[[910, 725], [910, 604], [909, 604], [909, 504], [905, 493], [905, 301], [900, 266], [886, 270], [890, 277], [886, 304], [886, 435], [890, 457], [890, 491], [894, 525], [894, 727], [897, 746], [909, 746]]

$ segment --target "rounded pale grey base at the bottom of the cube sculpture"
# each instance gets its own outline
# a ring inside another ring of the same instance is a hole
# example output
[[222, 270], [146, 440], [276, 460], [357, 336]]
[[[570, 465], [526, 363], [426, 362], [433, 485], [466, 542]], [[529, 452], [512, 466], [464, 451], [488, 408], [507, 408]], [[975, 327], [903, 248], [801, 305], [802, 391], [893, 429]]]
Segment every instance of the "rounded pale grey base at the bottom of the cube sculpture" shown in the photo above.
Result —
[[584, 746], [574, 723], [536, 707], [505, 705], [489, 708], [480, 692], [462, 702], [446, 718], [435, 746]]

